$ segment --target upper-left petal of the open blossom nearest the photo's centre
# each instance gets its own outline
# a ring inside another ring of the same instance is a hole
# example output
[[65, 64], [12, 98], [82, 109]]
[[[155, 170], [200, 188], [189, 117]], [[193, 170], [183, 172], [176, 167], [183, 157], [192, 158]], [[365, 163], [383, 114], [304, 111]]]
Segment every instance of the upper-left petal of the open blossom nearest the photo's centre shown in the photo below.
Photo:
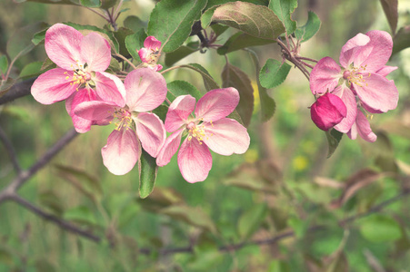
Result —
[[169, 106], [165, 118], [165, 129], [173, 132], [183, 126], [189, 115], [194, 112], [195, 98], [191, 95], [180, 95]]

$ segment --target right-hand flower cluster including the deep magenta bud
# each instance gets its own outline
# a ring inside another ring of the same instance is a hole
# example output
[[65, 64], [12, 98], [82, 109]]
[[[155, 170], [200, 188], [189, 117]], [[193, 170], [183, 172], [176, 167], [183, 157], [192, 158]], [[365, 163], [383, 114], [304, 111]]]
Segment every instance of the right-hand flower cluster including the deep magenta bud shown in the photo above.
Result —
[[395, 83], [386, 75], [397, 67], [386, 66], [393, 49], [390, 34], [370, 31], [357, 34], [342, 47], [339, 64], [321, 59], [310, 77], [310, 89], [318, 97], [312, 120], [322, 130], [332, 127], [355, 140], [375, 141], [366, 116], [394, 110], [398, 102]]

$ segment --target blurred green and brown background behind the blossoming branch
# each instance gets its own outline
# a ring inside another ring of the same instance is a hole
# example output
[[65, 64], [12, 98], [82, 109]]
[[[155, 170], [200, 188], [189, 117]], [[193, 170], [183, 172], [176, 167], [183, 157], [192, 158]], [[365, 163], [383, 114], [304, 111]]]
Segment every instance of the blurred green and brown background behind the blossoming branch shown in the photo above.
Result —
[[[148, 0], [128, 1], [125, 7], [129, 10], [118, 22], [121, 25], [128, 15], [146, 21], [154, 5]], [[343, 44], [355, 34], [389, 31], [379, 1], [300, 1], [293, 16], [298, 24], [305, 24], [308, 10], [319, 16], [322, 26], [303, 44], [301, 55], [306, 57], [328, 55], [337, 60]], [[410, 23], [409, 13], [407, 1], [399, 1], [399, 27]], [[81, 7], [2, 0], [0, 52], [5, 53], [17, 29], [38, 21], [105, 24]], [[232, 33], [224, 34], [220, 44]], [[281, 60], [276, 44], [254, 50], [261, 65], [267, 58]], [[44, 46], [37, 46], [15, 63], [12, 74], [45, 57]], [[248, 53], [230, 53], [228, 59], [249, 75], [256, 89]], [[223, 56], [208, 49], [180, 63], [193, 62], [201, 63], [221, 83]], [[386, 173], [410, 175], [410, 50], [397, 53], [388, 64], [399, 66], [389, 77], [395, 80], [400, 101], [394, 112], [376, 115], [371, 121], [378, 136], [375, 143], [344, 136], [335, 154], [326, 159], [325, 134], [310, 121], [308, 107], [314, 98], [309, 84], [302, 73], [292, 69], [285, 83], [270, 91], [276, 102], [271, 121], [259, 121], [255, 92], [255, 111], [248, 128], [251, 146], [244, 155], [213, 153], [208, 179], [195, 184], [183, 180], [174, 158], [159, 169], [155, 191], [147, 199], [138, 197], [136, 168], [125, 176], [105, 169], [100, 149], [113, 128], [93, 127], [69, 143], [19, 193], [103, 241], [98, 244], [68, 233], [15, 202], [5, 202], [0, 206], [0, 271], [410, 271], [408, 199], [344, 228], [337, 223], [408, 188], [410, 180]], [[203, 88], [199, 75], [183, 69], [166, 73], [165, 79], [168, 83], [185, 80]], [[42, 105], [26, 96], [0, 106], [0, 126], [26, 169], [72, 123], [63, 102]], [[359, 176], [352, 178], [358, 171]], [[348, 182], [368, 179], [369, 172], [383, 175], [357, 189], [341, 207], [332, 206]], [[14, 177], [1, 145], [0, 189]], [[325, 227], [308, 229], [317, 224]], [[296, 237], [270, 245], [217, 250], [272, 238], [288, 229]], [[158, 253], [159, 248], [189, 246], [194, 247], [193, 253]], [[152, 252], [139, 253], [138, 248]]]

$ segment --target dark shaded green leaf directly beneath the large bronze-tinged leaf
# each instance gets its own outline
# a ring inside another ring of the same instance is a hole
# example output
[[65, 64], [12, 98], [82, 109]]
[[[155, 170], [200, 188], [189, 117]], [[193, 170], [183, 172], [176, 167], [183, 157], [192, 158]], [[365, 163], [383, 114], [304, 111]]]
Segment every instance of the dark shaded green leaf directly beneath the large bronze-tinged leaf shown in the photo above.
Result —
[[261, 38], [256, 38], [254, 36], [245, 33], [236, 33], [232, 35], [223, 46], [217, 49], [217, 53], [226, 54], [231, 53], [236, 50], [244, 49], [250, 46], [273, 44], [274, 40], [265, 40]]

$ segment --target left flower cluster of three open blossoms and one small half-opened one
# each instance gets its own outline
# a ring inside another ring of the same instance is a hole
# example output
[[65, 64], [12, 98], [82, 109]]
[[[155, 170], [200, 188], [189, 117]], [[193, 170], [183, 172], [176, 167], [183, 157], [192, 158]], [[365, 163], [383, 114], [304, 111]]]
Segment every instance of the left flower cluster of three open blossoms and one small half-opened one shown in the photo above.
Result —
[[[45, 34], [45, 52], [58, 68], [40, 75], [31, 92], [44, 104], [65, 100], [78, 132], [115, 123], [101, 151], [105, 167], [115, 175], [132, 170], [142, 149], [165, 166], [186, 136], [178, 154], [181, 173], [189, 182], [205, 180], [212, 166], [209, 149], [231, 155], [244, 153], [249, 146], [245, 127], [226, 118], [235, 110], [239, 94], [234, 88], [212, 90], [196, 107], [192, 96], [179, 96], [169, 105], [164, 124], [152, 112], [165, 102], [167, 93], [165, 78], [157, 72], [162, 69], [157, 64], [161, 42], [149, 36], [144, 46], [138, 51], [141, 68], [127, 73], [123, 83], [105, 72], [111, 62], [105, 38], [55, 24]], [[166, 131], [173, 134], [166, 138]]]

